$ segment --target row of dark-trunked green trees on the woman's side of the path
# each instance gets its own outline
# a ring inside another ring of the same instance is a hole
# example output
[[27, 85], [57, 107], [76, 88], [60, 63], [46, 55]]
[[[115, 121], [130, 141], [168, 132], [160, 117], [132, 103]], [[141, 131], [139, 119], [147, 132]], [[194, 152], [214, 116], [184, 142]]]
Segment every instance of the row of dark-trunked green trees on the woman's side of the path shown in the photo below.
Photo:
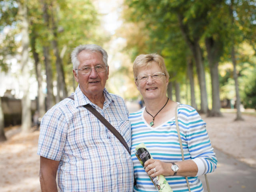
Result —
[[[194, 67], [200, 87], [200, 112], [222, 116], [220, 112], [219, 63], [232, 62], [236, 90], [236, 120], [242, 120], [237, 62], [255, 66], [238, 48], [246, 42], [256, 50], [256, 2], [254, 0], [126, 0], [124, 19], [133, 31], [123, 34], [127, 50], [134, 56], [158, 52], [166, 59], [170, 73], [169, 96], [175, 85], [176, 100], [182, 77], [190, 81], [191, 105], [197, 108]], [[256, 52], [254, 52], [256, 56]], [[210, 71], [212, 110], [208, 109], [205, 72]], [[255, 96], [254, 96], [255, 97]]]

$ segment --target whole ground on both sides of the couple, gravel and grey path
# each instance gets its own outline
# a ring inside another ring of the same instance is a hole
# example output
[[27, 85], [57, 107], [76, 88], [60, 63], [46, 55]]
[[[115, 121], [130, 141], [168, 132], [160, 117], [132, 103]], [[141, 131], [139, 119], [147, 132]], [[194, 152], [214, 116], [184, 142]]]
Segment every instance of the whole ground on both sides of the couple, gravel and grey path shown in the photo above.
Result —
[[[137, 108], [128, 103], [130, 112]], [[234, 122], [232, 113], [222, 118], [202, 115], [218, 158], [217, 170], [208, 174], [211, 192], [256, 192], [256, 117], [243, 117], [245, 121]], [[39, 131], [21, 134], [15, 127], [6, 136], [0, 143], [0, 192], [40, 192]]]

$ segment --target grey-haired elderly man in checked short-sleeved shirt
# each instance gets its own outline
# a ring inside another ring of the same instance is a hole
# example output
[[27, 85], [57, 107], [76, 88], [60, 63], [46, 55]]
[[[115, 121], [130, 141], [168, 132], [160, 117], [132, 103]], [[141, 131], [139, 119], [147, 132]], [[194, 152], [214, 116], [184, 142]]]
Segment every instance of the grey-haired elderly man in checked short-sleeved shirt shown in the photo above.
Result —
[[90, 104], [131, 147], [124, 100], [105, 89], [108, 54], [100, 46], [80, 45], [71, 54], [79, 83], [42, 118], [38, 144], [42, 192], [133, 191], [133, 164], [122, 143], [84, 105]]

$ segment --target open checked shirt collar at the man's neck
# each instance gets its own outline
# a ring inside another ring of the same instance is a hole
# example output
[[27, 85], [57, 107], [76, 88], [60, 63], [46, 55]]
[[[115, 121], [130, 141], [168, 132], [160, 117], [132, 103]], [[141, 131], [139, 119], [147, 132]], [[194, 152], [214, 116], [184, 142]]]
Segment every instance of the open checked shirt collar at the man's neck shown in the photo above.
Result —
[[[111, 102], [114, 102], [114, 100], [112, 99], [112, 96], [110, 95], [110, 93], [106, 90], [106, 88], [104, 88], [103, 90], [103, 94], [105, 96], [105, 101], [104, 101], [104, 105], [103, 105], [103, 109], [107, 108], [109, 106], [109, 104]], [[82, 92], [82, 90], [80, 89], [80, 86], [78, 85], [76, 88], [76, 91], [74, 92], [74, 99], [75, 99], [75, 107], [77, 108], [78, 106], [84, 106], [86, 104], [90, 104], [92, 106], [96, 106], [95, 104], [93, 104]]]

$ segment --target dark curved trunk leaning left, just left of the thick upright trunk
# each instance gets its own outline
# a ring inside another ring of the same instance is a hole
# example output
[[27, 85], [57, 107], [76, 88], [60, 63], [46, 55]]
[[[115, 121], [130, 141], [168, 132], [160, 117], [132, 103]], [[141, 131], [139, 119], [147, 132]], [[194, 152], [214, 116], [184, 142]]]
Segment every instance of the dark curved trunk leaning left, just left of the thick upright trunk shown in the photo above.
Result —
[[189, 37], [189, 30], [188, 26], [185, 26], [182, 22], [183, 16], [181, 14], [178, 14], [178, 20], [180, 24], [180, 30], [182, 32], [182, 35], [184, 36], [186, 44], [189, 46], [194, 60], [196, 64], [196, 72], [198, 76], [198, 83], [200, 86], [200, 99], [201, 99], [201, 113], [207, 113], [208, 112], [208, 98], [207, 98], [207, 90], [206, 90], [206, 80], [205, 80], [205, 72], [204, 72], [204, 63], [202, 60], [202, 51], [199, 45], [199, 37], [195, 37], [193, 40]]

